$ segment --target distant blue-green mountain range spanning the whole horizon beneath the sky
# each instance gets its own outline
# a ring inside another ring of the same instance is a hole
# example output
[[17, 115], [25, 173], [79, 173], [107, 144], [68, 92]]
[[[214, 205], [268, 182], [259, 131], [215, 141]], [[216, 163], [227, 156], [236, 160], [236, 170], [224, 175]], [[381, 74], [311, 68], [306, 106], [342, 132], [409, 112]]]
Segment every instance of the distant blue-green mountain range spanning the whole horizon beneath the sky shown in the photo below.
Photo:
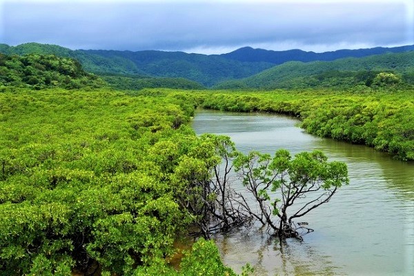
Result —
[[[332, 60], [340, 57], [364, 57], [383, 52], [414, 50], [414, 46], [397, 48], [372, 48], [338, 50], [335, 52], [304, 52], [301, 50], [269, 51], [241, 48], [225, 55], [187, 54], [185, 52], [70, 50], [60, 46], [26, 43], [19, 46], [0, 44], [0, 52], [6, 55], [30, 53], [54, 54], [79, 60], [88, 72], [98, 75], [133, 75], [139, 78], [185, 78], [204, 86], [214, 86], [231, 79], [243, 79], [256, 75], [275, 64], [285, 61]], [[390, 69], [390, 68], [388, 68]]]

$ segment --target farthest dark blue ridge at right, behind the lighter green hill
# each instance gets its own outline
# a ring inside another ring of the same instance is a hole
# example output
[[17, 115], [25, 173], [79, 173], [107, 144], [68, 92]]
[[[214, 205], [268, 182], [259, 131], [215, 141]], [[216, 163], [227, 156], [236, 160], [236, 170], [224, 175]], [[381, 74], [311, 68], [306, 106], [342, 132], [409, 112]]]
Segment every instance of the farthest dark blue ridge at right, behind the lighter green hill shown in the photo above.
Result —
[[408, 52], [414, 50], [414, 45], [401, 46], [394, 48], [368, 48], [357, 50], [336, 50], [332, 52], [305, 52], [302, 50], [273, 51], [264, 49], [253, 49], [251, 47], [239, 48], [233, 52], [220, 55], [226, 59], [233, 59], [245, 62], [266, 61], [275, 64], [282, 64], [288, 61], [333, 61], [345, 57], [368, 57], [371, 55], [381, 55], [386, 52]]

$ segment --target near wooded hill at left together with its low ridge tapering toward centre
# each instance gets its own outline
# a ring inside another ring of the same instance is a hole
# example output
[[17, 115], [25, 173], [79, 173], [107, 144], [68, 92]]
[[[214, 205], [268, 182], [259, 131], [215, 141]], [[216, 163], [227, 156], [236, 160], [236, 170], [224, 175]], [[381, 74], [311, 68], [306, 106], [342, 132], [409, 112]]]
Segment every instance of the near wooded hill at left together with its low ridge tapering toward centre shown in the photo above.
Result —
[[111, 86], [117, 90], [143, 88], [204, 89], [201, 84], [184, 78], [105, 75], [87, 73], [75, 59], [56, 55], [0, 54], [0, 87], [21, 88], [99, 88]]

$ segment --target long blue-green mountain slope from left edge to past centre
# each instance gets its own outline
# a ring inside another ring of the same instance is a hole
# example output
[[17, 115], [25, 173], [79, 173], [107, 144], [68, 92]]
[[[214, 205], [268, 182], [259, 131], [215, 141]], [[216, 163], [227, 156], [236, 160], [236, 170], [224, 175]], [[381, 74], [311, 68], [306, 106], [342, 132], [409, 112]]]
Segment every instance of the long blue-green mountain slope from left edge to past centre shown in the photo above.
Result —
[[88, 72], [98, 75], [135, 75], [139, 77], [185, 78], [204, 86], [227, 79], [241, 79], [274, 66], [266, 62], [242, 62], [217, 55], [187, 54], [163, 51], [70, 50], [60, 46], [26, 43], [19, 46], [0, 45], [7, 55], [52, 53], [72, 57]]

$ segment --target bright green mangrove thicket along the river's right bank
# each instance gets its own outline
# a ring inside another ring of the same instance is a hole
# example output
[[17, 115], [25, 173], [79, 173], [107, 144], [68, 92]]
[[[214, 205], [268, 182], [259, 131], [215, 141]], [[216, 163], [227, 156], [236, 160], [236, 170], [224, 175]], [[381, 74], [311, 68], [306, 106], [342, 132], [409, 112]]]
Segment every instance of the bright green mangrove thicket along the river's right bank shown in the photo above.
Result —
[[322, 137], [366, 144], [414, 160], [414, 90], [217, 91], [201, 106], [241, 112], [277, 112], [300, 117], [302, 128]]

